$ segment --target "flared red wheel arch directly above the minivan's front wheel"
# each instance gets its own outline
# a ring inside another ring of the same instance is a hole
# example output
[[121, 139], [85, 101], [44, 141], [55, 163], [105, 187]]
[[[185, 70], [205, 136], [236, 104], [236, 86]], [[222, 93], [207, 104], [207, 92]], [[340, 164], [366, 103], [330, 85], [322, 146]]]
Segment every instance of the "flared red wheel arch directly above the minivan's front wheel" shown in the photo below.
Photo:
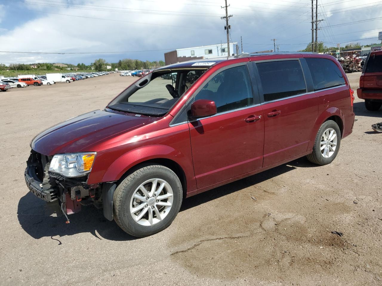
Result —
[[[167, 145], [148, 145], [128, 151], [115, 160], [105, 172], [102, 182], [117, 181], [135, 165], [159, 158], [176, 162], [187, 174], [187, 169], [189, 168], [183, 162], [186, 160], [186, 156], [179, 150], [175, 150]], [[192, 166], [192, 162], [190, 165]]]

